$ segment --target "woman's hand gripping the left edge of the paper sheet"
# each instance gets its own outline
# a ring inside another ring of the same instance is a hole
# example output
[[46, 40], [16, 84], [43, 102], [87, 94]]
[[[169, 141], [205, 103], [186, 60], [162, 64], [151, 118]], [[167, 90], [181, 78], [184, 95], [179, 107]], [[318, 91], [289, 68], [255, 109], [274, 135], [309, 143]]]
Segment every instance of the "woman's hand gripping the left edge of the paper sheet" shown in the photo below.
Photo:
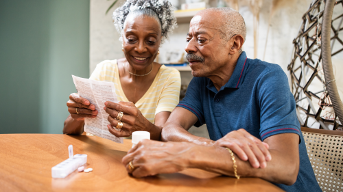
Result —
[[97, 110], [95, 109], [95, 105], [91, 104], [79, 94], [70, 94], [69, 100], [67, 102], [68, 111], [71, 115], [71, 118], [74, 120], [84, 120], [84, 118], [96, 118], [97, 117]]

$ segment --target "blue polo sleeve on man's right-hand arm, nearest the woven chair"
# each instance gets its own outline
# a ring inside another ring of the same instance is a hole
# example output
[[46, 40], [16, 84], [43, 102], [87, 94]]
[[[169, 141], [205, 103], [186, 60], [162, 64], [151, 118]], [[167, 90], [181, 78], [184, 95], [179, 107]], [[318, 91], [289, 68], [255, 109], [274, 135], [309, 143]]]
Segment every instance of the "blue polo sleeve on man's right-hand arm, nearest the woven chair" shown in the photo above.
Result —
[[257, 90], [261, 108], [261, 139], [280, 133], [296, 133], [300, 136], [296, 102], [289, 90], [287, 76], [281, 67], [275, 65], [275, 68], [263, 74]]

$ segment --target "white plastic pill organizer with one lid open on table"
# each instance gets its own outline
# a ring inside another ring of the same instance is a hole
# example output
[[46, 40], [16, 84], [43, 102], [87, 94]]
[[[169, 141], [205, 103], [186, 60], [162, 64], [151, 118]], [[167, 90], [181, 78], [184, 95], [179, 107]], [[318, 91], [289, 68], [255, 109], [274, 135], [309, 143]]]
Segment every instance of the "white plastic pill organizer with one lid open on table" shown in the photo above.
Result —
[[69, 159], [51, 168], [52, 178], [65, 178], [78, 169], [78, 167], [87, 163], [86, 154], [75, 154], [72, 156], [72, 150], [73, 147], [69, 146]]

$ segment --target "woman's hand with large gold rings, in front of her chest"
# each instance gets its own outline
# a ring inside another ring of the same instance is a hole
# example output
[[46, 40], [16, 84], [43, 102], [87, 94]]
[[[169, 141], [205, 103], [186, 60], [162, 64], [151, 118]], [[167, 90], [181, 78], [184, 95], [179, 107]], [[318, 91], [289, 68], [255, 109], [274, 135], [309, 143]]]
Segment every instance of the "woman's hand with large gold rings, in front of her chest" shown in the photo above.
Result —
[[[134, 131], [152, 131], [154, 124], [150, 123], [134, 106], [133, 102], [119, 103], [106, 101], [104, 109], [108, 113], [108, 131], [116, 137], [129, 137]], [[115, 127], [118, 125], [118, 113], [123, 112], [123, 117], [120, 119], [123, 126], [118, 130]], [[161, 134], [161, 131], [160, 131]]]

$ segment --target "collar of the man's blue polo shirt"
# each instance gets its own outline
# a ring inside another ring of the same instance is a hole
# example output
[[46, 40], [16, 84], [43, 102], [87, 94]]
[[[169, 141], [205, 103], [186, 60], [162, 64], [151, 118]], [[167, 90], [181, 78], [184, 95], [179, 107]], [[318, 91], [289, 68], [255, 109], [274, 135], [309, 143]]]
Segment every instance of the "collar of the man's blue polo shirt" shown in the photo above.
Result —
[[[235, 70], [233, 70], [233, 74], [231, 75], [228, 82], [225, 83], [223, 87], [220, 88], [220, 90], [224, 90], [224, 88], [239, 88], [241, 85], [241, 81], [244, 78], [246, 68], [246, 60], [248, 58], [246, 57], [246, 52], [243, 51], [241, 55], [239, 55], [237, 64], [235, 66]], [[207, 85], [207, 88], [215, 93], [217, 93], [217, 90], [215, 89], [213, 82], [210, 80], [209, 84]]]

